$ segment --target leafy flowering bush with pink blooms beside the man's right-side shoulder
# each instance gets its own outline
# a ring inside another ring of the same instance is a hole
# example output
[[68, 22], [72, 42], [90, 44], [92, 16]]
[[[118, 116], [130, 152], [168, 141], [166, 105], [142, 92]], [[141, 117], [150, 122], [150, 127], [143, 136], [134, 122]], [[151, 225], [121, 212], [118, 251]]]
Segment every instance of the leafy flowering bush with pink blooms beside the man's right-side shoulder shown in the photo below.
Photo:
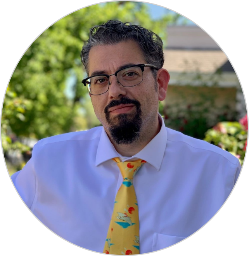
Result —
[[247, 115], [239, 122], [220, 122], [209, 129], [204, 140], [227, 150], [243, 163], [247, 147]]

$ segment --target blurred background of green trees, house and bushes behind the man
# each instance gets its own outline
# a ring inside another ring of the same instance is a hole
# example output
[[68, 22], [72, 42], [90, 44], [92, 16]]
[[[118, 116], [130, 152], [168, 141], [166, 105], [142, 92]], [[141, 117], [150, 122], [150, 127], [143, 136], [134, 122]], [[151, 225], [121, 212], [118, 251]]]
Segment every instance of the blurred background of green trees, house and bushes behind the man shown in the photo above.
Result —
[[10, 175], [22, 169], [41, 138], [100, 125], [81, 83], [86, 73], [80, 52], [89, 29], [110, 19], [139, 24], [163, 39], [164, 68], [171, 76], [166, 100], [159, 104], [165, 125], [228, 150], [242, 164], [246, 104], [221, 48], [176, 12], [149, 3], [107, 2], [57, 21], [18, 63], [1, 113], [2, 147]]

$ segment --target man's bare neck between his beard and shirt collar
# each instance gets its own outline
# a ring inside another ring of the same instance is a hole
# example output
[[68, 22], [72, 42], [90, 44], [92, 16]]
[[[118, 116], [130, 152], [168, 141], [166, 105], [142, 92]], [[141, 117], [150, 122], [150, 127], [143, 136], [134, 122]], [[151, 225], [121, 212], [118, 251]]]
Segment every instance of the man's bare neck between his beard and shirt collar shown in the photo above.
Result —
[[121, 156], [134, 156], [139, 151], [141, 151], [149, 142], [159, 133], [162, 123], [159, 116], [156, 117], [154, 125], [149, 125], [143, 127], [140, 132], [140, 137], [138, 140], [134, 141], [131, 144], [116, 144], [116, 142], [111, 138], [109, 132], [105, 129], [112, 145], [116, 151], [121, 154]]

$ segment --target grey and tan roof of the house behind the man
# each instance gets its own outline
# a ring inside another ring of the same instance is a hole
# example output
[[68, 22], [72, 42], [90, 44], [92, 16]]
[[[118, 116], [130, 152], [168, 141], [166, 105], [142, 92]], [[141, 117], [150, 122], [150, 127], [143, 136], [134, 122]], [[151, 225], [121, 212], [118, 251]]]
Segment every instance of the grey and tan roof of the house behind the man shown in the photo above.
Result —
[[234, 72], [227, 56], [199, 26], [168, 26], [164, 68], [175, 73]]

